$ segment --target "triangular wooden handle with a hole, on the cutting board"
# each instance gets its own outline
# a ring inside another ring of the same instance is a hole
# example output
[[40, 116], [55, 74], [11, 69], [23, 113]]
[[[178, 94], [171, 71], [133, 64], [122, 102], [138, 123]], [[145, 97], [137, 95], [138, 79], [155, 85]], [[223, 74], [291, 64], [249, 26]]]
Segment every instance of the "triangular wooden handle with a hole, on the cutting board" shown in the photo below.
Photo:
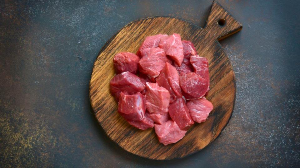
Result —
[[220, 4], [213, 1], [204, 30], [206, 37], [211, 40], [222, 40], [242, 29], [242, 25], [235, 20]]

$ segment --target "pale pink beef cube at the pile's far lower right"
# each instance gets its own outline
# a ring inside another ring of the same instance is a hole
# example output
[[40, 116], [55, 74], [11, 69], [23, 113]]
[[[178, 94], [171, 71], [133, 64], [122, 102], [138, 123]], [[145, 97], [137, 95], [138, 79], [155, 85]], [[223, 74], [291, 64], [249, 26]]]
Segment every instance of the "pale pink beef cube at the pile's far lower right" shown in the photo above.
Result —
[[187, 102], [187, 108], [190, 110], [192, 119], [197, 123], [201, 123], [207, 119], [213, 109], [213, 105], [210, 101], [202, 98], [190, 100]]

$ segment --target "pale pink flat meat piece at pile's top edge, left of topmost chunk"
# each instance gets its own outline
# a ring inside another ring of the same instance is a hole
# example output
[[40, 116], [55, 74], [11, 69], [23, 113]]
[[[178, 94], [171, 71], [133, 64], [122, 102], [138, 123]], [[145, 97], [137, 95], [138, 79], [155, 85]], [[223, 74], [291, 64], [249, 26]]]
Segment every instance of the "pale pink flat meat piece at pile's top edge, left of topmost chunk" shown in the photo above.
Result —
[[165, 40], [166, 38], [168, 38], [168, 35], [152, 35], [152, 36], [148, 36], [146, 37], [146, 39], [143, 41], [142, 45], [140, 46], [140, 48], [138, 49], [137, 55], [138, 56], [142, 56], [141, 55], [141, 51], [143, 49], [146, 48], [156, 48], [158, 47], [158, 44], [161, 40]]

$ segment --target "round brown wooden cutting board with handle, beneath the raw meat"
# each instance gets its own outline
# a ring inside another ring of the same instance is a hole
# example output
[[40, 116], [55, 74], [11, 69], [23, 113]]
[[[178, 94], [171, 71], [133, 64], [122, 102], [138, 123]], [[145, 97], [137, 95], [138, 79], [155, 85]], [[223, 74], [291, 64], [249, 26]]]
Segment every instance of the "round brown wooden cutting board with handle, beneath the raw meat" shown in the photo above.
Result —
[[[90, 81], [91, 105], [108, 137], [128, 152], [157, 160], [182, 158], [215, 140], [230, 119], [236, 93], [232, 66], [218, 40], [241, 29], [242, 25], [217, 2], [213, 2], [204, 28], [173, 17], [149, 17], [123, 27], [101, 49]], [[118, 104], [109, 92], [109, 81], [115, 75], [114, 55], [122, 51], [136, 53], [146, 36], [160, 33], [180, 34], [182, 40], [191, 40], [199, 55], [208, 59], [207, 99], [214, 106], [206, 122], [194, 124], [182, 140], [167, 146], [158, 142], [153, 128], [142, 131], [130, 126], [118, 114]]]

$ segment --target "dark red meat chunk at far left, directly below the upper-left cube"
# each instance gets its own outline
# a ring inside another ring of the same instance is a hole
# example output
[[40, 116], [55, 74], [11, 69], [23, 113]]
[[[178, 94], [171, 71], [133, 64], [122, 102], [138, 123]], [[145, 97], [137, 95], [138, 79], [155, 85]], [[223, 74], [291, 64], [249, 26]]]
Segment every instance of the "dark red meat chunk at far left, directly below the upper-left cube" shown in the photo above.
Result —
[[117, 100], [119, 100], [122, 91], [135, 94], [144, 89], [145, 85], [141, 79], [131, 72], [122, 72], [110, 80], [110, 92]]

